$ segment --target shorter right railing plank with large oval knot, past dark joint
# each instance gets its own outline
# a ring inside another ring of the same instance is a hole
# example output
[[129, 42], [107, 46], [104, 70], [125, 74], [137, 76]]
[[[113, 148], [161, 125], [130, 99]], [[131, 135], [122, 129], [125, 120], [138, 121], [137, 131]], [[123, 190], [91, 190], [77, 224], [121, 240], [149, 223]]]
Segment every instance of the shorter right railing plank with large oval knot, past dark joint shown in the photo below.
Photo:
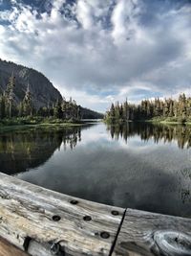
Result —
[[190, 256], [191, 220], [128, 209], [113, 256]]

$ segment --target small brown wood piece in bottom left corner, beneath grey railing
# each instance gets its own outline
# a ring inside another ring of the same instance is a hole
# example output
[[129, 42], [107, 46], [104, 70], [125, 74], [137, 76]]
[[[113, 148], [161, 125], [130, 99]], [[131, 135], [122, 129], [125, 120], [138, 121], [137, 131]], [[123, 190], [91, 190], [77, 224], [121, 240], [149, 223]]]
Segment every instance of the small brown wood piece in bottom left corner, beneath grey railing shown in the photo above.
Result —
[[29, 256], [0, 237], [0, 256]]

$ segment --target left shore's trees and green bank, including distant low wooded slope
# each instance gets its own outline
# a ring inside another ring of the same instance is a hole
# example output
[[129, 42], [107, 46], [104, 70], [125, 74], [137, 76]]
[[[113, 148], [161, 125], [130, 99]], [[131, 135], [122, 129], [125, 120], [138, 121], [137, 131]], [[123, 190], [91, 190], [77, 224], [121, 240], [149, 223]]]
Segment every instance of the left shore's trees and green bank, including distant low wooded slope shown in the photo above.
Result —
[[[16, 125], [82, 124], [82, 119], [103, 118], [103, 114], [77, 105], [72, 98], [66, 101], [61, 95], [57, 101], [48, 101], [46, 105], [37, 107], [36, 97], [32, 93], [33, 85], [30, 86], [28, 82], [22, 97], [18, 94], [17, 81], [18, 78], [12, 73], [6, 88], [2, 89], [0, 86], [0, 128]], [[44, 103], [44, 98], [41, 102]]]

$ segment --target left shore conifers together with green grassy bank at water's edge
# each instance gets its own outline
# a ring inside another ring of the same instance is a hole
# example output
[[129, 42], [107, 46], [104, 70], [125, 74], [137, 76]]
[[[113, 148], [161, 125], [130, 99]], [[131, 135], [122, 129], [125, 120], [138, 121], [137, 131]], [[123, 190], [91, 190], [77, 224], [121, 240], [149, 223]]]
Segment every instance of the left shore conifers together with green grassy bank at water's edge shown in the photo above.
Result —
[[26, 125], [39, 123], [77, 123], [81, 120], [80, 105], [70, 99], [57, 100], [55, 104], [34, 108], [32, 94], [28, 84], [22, 102], [18, 102], [15, 94], [15, 77], [13, 74], [6, 90], [0, 95], [0, 125]]

